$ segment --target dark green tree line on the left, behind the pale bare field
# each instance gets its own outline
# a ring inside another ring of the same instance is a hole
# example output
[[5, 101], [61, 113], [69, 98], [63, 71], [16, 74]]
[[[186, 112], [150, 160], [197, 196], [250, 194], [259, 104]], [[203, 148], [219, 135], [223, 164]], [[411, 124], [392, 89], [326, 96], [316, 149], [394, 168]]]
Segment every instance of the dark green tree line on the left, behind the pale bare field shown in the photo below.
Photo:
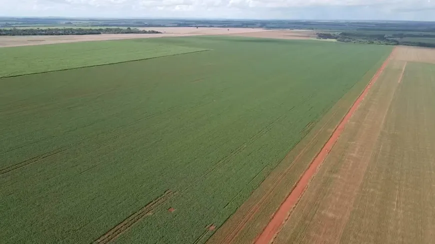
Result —
[[0, 35], [99, 35], [99, 34], [157, 34], [155, 30], [136, 28], [8, 28], [0, 29]]

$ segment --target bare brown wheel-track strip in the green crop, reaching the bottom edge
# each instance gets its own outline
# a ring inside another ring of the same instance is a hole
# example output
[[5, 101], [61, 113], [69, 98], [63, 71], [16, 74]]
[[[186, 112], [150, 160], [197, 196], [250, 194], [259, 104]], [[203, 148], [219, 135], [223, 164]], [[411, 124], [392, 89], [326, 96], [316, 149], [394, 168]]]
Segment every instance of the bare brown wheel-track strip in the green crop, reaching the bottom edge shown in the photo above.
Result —
[[126, 232], [128, 229], [130, 229], [134, 224], [145, 218], [146, 216], [152, 214], [152, 211], [169, 200], [175, 193], [171, 191], [164, 192], [163, 195], [156, 198], [149, 204], [147, 204], [145, 207], [137, 211], [136, 213], [130, 215], [128, 218], [126, 218], [124, 221], [119, 223], [117, 226], [115, 226], [113, 229], [108, 231], [106, 234], [102, 235], [100, 238], [98, 238], [94, 243], [96, 244], [107, 244], [115, 240], [117, 237], [122, 235], [124, 232]]

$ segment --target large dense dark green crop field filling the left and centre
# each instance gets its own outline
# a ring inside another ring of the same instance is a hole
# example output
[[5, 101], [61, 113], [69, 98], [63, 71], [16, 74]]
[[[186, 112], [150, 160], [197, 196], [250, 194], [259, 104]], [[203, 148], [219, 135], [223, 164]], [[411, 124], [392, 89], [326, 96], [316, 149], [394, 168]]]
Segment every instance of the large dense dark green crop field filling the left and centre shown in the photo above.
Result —
[[91, 243], [140, 211], [114, 243], [203, 243], [391, 50], [206, 36], [124, 44], [211, 50], [0, 79], [1, 243]]

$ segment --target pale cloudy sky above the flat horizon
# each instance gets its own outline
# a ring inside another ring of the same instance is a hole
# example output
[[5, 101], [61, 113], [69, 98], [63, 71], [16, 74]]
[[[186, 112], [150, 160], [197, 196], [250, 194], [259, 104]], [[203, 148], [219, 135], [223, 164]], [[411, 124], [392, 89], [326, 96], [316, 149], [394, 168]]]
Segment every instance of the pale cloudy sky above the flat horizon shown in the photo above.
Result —
[[0, 0], [0, 6], [0, 16], [435, 21], [435, 0]]

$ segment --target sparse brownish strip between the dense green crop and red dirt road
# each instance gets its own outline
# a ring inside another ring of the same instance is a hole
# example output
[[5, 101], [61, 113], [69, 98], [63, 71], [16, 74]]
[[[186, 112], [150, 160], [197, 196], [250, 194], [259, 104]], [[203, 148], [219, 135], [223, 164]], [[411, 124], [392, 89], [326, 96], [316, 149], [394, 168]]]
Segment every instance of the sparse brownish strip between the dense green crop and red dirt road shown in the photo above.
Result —
[[292, 192], [301, 175], [331, 137], [337, 125], [342, 123], [340, 121], [349, 111], [349, 107], [383, 62], [380, 59], [378, 65], [367, 71], [315, 125], [311, 125], [309, 133], [285, 155], [249, 199], [207, 241], [208, 244], [251, 244], [258, 241], [258, 236], [265, 230], [276, 210], [281, 208], [288, 193]]

